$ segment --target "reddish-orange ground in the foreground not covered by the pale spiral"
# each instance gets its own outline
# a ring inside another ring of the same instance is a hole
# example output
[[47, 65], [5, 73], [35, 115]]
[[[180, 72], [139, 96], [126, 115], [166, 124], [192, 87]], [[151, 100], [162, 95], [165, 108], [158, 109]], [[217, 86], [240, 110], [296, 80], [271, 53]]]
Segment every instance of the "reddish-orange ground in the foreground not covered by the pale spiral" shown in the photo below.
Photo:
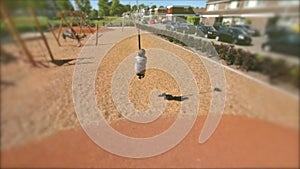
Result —
[[[143, 135], [168, 127], [160, 119], [153, 128], [112, 126], [120, 132]], [[159, 156], [123, 158], [98, 147], [81, 128], [60, 132], [39, 142], [2, 153], [2, 167], [22, 168], [297, 168], [298, 134], [260, 120], [226, 115], [205, 144], [198, 137], [205, 117], [199, 117], [187, 137]]]

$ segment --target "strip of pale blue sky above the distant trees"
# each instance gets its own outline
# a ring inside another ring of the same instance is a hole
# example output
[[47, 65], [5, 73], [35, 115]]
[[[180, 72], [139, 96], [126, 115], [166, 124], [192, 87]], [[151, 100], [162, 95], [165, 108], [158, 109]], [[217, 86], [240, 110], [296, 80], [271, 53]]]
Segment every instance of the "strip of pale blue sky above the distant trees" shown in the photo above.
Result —
[[[75, 0], [71, 0], [71, 3], [74, 5]], [[111, 0], [109, 0], [111, 1]], [[145, 4], [148, 6], [156, 5], [159, 6], [169, 6], [169, 5], [190, 5], [193, 7], [205, 7], [207, 0], [138, 0], [139, 4]], [[93, 9], [98, 10], [98, 0], [90, 0]], [[120, 3], [123, 5], [130, 4], [131, 6], [136, 5], [136, 0], [120, 0]]]

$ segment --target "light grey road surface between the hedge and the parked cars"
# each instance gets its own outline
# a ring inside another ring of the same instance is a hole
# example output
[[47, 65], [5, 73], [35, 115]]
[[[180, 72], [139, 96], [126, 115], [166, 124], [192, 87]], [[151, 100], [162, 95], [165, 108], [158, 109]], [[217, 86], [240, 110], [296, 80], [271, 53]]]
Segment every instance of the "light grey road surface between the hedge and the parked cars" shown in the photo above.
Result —
[[[165, 25], [160, 24], [160, 23], [159, 24], [147, 24], [147, 26], [152, 26], [152, 27], [155, 27], [157, 29], [166, 29]], [[191, 36], [195, 36], [195, 35], [191, 35]], [[214, 42], [215, 44], [223, 43], [223, 44], [232, 45], [230, 43], [216, 41], [215, 39], [210, 39], [210, 40], [212, 42]], [[289, 64], [299, 65], [300, 61], [299, 61], [299, 58], [297, 56], [263, 51], [262, 48], [261, 48], [261, 45], [266, 41], [267, 41], [267, 36], [263, 35], [263, 36], [260, 36], [260, 37], [252, 37], [252, 45], [249, 45], [249, 46], [235, 45], [235, 46], [237, 48], [242, 48], [242, 49], [245, 49], [247, 51], [250, 51], [251, 53], [257, 53], [257, 54], [260, 54], [262, 56], [270, 57], [270, 58], [273, 58], [273, 59], [283, 59]]]

